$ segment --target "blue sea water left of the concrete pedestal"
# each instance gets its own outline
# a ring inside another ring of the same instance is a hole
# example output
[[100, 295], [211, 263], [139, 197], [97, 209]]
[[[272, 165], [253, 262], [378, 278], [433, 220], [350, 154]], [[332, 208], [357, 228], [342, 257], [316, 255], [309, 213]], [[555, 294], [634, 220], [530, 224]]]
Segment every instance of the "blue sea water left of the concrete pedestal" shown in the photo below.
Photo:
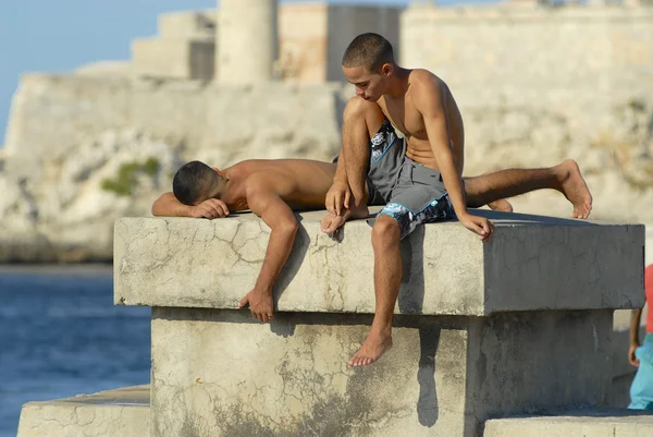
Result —
[[0, 437], [25, 402], [149, 383], [150, 308], [112, 293], [110, 266], [0, 267]]

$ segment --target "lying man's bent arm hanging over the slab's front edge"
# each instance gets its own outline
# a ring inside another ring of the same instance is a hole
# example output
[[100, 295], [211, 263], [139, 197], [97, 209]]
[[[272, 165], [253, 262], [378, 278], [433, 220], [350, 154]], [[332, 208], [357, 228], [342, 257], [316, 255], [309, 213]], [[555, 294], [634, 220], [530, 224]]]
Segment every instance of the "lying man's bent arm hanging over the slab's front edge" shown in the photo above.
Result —
[[268, 180], [261, 177], [249, 179], [247, 204], [270, 227], [271, 232], [256, 284], [238, 306], [249, 303], [251, 314], [266, 323], [273, 314], [272, 288], [291, 254], [299, 223], [291, 207], [272, 190]]

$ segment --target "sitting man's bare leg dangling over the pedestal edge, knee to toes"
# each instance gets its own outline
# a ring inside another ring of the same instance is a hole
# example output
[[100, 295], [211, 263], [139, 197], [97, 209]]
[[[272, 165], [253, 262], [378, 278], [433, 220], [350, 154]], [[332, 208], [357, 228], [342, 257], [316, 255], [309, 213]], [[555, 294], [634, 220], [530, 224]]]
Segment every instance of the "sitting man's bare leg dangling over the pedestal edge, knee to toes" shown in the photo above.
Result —
[[397, 220], [379, 216], [372, 228], [377, 308], [370, 333], [349, 360], [350, 366], [372, 364], [392, 348], [392, 318], [402, 286], [401, 231]]

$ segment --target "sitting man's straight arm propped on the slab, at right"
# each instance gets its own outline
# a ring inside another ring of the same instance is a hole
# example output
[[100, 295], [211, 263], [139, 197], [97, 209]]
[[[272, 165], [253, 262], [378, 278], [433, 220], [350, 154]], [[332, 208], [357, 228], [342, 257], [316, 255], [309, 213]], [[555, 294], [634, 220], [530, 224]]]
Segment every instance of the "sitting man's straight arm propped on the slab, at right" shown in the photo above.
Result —
[[486, 240], [491, 233], [491, 224], [488, 219], [472, 216], [467, 211], [461, 175], [456, 169], [451, 148], [451, 137], [440, 81], [435, 77], [423, 77], [419, 81], [418, 85], [420, 89], [415, 89], [414, 102], [417, 110], [423, 117], [429, 143], [431, 144], [433, 156], [438, 161], [444, 187], [448, 193], [456, 216], [467, 229], [479, 233], [482, 240]]

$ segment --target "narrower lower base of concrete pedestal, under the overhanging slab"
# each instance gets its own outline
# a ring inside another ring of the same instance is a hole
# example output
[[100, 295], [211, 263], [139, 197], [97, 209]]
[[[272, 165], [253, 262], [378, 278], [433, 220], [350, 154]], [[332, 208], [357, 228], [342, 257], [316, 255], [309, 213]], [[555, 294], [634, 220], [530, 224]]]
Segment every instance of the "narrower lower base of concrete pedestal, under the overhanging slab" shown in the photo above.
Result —
[[606, 403], [611, 311], [399, 316], [394, 348], [354, 369], [370, 321], [153, 308], [152, 437], [476, 437], [491, 416]]

